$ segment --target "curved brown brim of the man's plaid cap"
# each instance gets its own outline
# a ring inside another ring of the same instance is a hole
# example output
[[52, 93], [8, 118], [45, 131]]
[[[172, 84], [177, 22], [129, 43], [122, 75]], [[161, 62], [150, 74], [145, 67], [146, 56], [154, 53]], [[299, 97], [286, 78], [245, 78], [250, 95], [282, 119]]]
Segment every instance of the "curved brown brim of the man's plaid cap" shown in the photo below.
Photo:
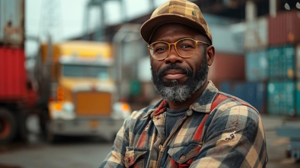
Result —
[[170, 22], [177, 22], [177, 23], [189, 25], [189, 26], [201, 31], [205, 35], [207, 35], [205, 29], [199, 23], [197, 23], [187, 17], [184, 17], [182, 15], [168, 13], [168, 14], [161, 14], [161, 15], [155, 16], [152, 19], [147, 20], [142, 25], [142, 27], [140, 29], [140, 33], [141, 33], [143, 40], [146, 43], [149, 43], [155, 29], [162, 24], [170, 23]]

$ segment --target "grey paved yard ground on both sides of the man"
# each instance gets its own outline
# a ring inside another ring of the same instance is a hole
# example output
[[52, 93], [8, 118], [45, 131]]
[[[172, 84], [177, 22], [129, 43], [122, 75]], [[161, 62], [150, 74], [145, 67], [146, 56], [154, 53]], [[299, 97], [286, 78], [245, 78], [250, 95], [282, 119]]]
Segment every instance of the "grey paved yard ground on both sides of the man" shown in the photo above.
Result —
[[[262, 116], [262, 119], [267, 138], [268, 167], [299, 168], [299, 163], [285, 156], [289, 139], [276, 136], [275, 127], [281, 125], [282, 117]], [[31, 132], [29, 143], [0, 146], [0, 168], [98, 167], [112, 146], [112, 143], [95, 138], [65, 138], [58, 144], [50, 145], [39, 138], [35, 116], [29, 117], [28, 127]]]

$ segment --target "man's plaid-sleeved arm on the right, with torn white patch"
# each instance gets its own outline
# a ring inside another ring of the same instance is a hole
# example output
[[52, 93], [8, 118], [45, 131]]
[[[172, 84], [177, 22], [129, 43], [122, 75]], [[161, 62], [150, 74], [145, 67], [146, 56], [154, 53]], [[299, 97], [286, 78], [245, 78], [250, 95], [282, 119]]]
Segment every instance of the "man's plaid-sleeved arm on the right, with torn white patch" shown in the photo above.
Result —
[[265, 132], [259, 114], [237, 105], [217, 110], [190, 167], [265, 167]]

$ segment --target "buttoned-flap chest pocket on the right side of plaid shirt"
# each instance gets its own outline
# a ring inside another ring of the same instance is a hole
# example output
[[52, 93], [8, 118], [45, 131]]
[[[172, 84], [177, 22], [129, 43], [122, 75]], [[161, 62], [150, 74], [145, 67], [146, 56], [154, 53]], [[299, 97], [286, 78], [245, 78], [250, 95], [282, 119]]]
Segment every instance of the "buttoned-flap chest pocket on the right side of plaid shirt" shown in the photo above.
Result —
[[177, 144], [170, 147], [168, 150], [169, 163], [167, 167], [189, 167], [198, 155], [201, 146], [198, 144]]

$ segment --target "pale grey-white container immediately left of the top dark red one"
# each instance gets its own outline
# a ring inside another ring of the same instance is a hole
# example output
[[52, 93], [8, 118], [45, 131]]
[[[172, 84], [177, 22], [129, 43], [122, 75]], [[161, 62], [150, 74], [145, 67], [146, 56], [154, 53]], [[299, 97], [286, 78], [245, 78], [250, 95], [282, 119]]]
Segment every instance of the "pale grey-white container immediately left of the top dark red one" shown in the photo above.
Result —
[[246, 22], [244, 33], [244, 49], [265, 49], [268, 46], [268, 18], [260, 17], [257, 20]]

